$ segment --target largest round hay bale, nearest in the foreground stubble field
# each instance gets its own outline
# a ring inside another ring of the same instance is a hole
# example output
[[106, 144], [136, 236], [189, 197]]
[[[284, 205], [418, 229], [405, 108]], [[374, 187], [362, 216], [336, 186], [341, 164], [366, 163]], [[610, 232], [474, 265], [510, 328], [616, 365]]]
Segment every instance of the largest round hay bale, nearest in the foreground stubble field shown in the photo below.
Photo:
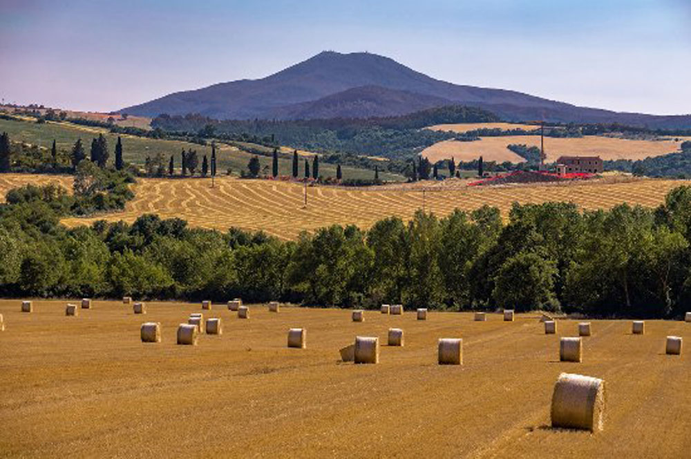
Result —
[[605, 382], [590, 376], [561, 373], [552, 393], [553, 428], [603, 429]]

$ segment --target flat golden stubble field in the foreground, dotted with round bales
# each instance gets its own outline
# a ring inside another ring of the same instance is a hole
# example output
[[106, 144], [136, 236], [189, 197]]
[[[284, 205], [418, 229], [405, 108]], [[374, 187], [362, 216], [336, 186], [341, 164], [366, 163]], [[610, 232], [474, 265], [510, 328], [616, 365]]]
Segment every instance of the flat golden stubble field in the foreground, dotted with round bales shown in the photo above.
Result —
[[[665, 355], [665, 337], [691, 338], [684, 322], [593, 321], [583, 363], [559, 362], [560, 321], [545, 335], [539, 315], [487, 322], [471, 313], [350, 311], [250, 305], [225, 308], [225, 333], [176, 345], [198, 304], [148, 302], [162, 342], [140, 339], [142, 316], [95, 301], [77, 318], [62, 301], [0, 301], [0, 456], [3, 457], [685, 457], [691, 448], [691, 359]], [[305, 328], [307, 349], [288, 329]], [[406, 346], [386, 346], [391, 327]], [[379, 364], [339, 362], [356, 335], [379, 337]], [[437, 364], [439, 338], [462, 338], [462, 366]], [[604, 430], [550, 426], [562, 372], [603, 378]]]

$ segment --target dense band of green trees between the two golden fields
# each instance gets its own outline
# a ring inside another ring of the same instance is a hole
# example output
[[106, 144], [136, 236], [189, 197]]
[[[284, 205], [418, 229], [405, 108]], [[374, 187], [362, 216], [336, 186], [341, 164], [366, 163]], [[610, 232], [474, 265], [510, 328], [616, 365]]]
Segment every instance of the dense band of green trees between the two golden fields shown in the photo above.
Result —
[[330, 226], [284, 242], [263, 233], [58, 224], [64, 193], [13, 191], [0, 206], [0, 295], [60, 295], [433, 309], [561, 309], [672, 317], [691, 300], [691, 187], [655, 210], [580, 213], [564, 203], [418, 212], [363, 231]]

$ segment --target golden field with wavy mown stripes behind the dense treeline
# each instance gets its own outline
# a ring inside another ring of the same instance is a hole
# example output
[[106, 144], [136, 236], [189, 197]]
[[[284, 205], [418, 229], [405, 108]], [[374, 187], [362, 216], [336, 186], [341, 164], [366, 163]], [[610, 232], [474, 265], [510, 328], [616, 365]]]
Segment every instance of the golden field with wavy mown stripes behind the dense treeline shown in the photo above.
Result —
[[670, 189], [683, 180], [633, 179], [629, 182], [578, 182], [503, 187], [460, 186], [435, 188], [423, 196], [419, 188], [348, 189], [327, 186], [307, 188], [307, 207], [301, 184], [269, 180], [220, 177], [211, 188], [209, 179], [138, 179], [135, 199], [123, 212], [91, 218], [67, 218], [68, 226], [91, 224], [97, 219], [133, 222], [143, 213], [162, 218], [180, 217], [192, 226], [225, 231], [230, 226], [263, 230], [283, 239], [295, 239], [303, 230], [330, 224], [357, 224], [369, 228], [390, 215], [409, 219], [423, 207], [437, 215], [454, 208], [474, 210], [484, 204], [497, 206], [504, 216], [511, 203], [574, 202], [587, 209], [609, 208], [622, 202], [658, 206]]

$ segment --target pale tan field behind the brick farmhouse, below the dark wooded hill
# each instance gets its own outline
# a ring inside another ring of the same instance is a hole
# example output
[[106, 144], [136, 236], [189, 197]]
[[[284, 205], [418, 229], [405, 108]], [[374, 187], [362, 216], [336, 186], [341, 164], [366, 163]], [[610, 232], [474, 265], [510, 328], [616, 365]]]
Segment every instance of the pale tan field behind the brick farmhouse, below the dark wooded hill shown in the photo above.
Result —
[[[675, 153], [687, 137], [665, 140], [629, 140], [615, 137], [587, 135], [579, 138], [545, 137], [547, 162], [555, 162], [562, 155], [599, 156], [602, 159], [645, 159]], [[476, 141], [444, 140], [422, 150], [431, 162], [453, 157], [456, 161], [472, 161], [482, 156], [485, 161], [513, 163], [524, 162], [507, 146], [525, 144], [540, 146], [539, 135], [515, 135], [506, 137], [482, 137]]]

